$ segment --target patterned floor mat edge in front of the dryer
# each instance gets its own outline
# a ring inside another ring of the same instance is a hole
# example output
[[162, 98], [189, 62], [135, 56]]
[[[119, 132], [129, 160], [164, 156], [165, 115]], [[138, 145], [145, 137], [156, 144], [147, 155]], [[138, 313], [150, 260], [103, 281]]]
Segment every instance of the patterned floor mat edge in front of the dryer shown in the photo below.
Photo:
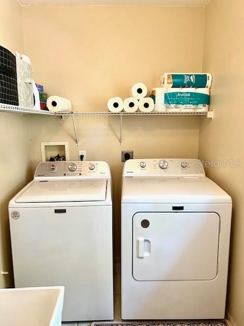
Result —
[[163, 322], [93, 322], [93, 326], [228, 326], [225, 320], [215, 321], [163, 321]]

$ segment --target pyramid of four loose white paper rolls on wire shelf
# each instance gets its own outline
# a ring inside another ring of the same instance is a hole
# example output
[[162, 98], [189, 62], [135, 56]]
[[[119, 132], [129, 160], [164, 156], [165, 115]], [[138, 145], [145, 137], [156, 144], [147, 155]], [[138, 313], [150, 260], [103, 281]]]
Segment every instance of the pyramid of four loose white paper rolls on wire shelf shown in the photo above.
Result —
[[147, 88], [143, 83], [137, 83], [132, 86], [130, 97], [124, 101], [121, 97], [113, 97], [108, 100], [108, 110], [111, 112], [129, 112], [134, 113], [138, 110], [141, 112], [151, 112], [154, 110], [154, 100], [151, 97], [146, 97]]

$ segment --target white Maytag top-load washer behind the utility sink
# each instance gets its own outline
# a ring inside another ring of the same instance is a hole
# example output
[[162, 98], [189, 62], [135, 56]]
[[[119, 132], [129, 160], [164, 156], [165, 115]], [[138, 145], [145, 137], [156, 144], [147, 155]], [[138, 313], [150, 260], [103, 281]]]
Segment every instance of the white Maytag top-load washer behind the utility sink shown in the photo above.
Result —
[[64, 285], [64, 321], [113, 319], [106, 162], [40, 163], [10, 201], [9, 220], [15, 287]]

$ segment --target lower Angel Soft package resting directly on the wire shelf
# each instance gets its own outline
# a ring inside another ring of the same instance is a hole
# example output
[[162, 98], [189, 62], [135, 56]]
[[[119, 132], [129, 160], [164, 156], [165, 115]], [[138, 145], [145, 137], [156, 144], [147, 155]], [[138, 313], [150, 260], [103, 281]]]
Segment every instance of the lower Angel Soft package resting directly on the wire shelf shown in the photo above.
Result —
[[154, 88], [150, 96], [158, 112], [207, 112], [209, 107], [209, 88]]

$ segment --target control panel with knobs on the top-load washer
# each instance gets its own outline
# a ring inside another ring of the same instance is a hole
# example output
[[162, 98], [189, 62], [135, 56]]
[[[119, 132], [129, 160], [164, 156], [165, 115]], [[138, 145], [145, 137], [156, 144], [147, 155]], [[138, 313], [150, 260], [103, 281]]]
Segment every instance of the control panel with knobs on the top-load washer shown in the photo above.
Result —
[[38, 165], [35, 173], [35, 178], [82, 176], [110, 177], [109, 166], [103, 161], [42, 162]]

